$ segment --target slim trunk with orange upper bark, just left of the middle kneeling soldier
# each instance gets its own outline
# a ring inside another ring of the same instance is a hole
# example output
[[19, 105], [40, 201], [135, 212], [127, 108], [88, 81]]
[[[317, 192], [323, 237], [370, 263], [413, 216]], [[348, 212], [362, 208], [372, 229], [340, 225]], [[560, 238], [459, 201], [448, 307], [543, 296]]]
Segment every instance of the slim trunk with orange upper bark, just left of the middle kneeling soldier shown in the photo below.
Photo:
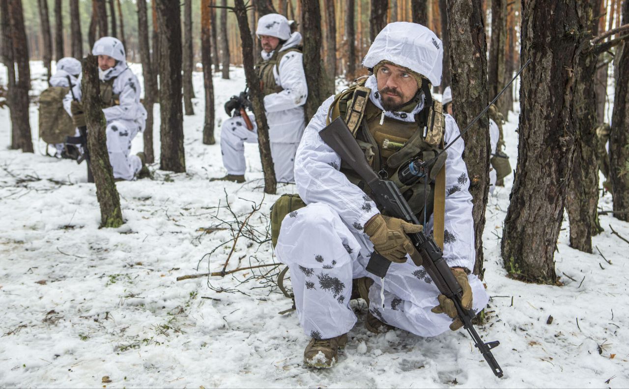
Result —
[[203, 87], [205, 90], [205, 121], [203, 144], [213, 145], [214, 140], [214, 83], [212, 80], [212, 11], [211, 0], [201, 0], [201, 62], [203, 63]]

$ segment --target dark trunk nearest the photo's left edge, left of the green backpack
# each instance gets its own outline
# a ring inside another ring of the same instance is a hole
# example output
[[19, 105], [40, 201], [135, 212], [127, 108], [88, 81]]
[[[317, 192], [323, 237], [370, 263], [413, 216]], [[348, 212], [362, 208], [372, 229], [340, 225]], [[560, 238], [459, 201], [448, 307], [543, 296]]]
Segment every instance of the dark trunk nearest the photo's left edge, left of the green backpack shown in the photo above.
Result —
[[[16, 148], [23, 152], [33, 152], [33, 139], [28, 118], [28, 91], [31, 89], [31, 71], [28, 65], [28, 40], [24, 25], [22, 0], [9, 0], [9, 31], [12, 33], [13, 62], [15, 84], [8, 93], [11, 97], [11, 124], [13, 134], [17, 135]], [[11, 46], [9, 46], [10, 48]], [[13, 143], [13, 142], [12, 142]]]

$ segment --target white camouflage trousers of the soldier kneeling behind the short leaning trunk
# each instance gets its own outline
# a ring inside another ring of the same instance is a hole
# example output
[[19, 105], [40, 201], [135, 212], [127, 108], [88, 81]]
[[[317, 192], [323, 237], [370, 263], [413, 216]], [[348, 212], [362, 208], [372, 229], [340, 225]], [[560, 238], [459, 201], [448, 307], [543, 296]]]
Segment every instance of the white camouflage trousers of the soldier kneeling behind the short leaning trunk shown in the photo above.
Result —
[[107, 123], [107, 150], [114, 178], [131, 180], [142, 169], [142, 161], [131, 152], [131, 140], [138, 133], [138, 124], [132, 120], [112, 120]]

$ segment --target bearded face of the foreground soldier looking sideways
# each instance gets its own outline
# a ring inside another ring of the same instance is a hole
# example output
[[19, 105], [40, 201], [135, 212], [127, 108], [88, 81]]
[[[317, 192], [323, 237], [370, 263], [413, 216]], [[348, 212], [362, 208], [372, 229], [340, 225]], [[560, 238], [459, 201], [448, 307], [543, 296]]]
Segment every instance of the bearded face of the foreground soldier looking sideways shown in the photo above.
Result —
[[415, 97], [419, 89], [415, 77], [396, 65], [382, 65], [376, 79], [385, 111], [397, 111]]

